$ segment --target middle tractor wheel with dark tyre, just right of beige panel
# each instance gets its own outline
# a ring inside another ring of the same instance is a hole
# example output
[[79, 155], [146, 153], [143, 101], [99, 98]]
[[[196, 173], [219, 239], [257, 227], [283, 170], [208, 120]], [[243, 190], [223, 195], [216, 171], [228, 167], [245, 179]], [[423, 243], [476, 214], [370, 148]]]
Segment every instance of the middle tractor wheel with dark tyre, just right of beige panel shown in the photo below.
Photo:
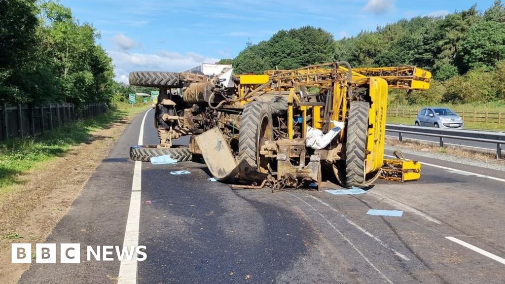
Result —
[[260, 156], [260, 147], [273, 139], [272, 115], [267, 104], [251, 102], [245, 105], [240, 118], [238, 156], [251, 167], [267, 173], [270, 159]]

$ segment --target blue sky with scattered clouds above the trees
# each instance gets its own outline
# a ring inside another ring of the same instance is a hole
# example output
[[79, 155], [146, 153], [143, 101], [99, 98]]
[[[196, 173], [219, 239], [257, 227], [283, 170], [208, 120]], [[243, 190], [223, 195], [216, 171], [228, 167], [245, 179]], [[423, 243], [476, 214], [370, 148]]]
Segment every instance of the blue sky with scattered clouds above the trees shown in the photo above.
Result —
[[[477, 0], [61, 0], [91, 23], [113, 59], [115, 79], [130, 71], [179, 72], [234, 58], [248, 40], [281, 29], [321, 27], [335, 39], [416, 16], [443, 16]], [[485, 10], [494, 0], [478, 1]]]

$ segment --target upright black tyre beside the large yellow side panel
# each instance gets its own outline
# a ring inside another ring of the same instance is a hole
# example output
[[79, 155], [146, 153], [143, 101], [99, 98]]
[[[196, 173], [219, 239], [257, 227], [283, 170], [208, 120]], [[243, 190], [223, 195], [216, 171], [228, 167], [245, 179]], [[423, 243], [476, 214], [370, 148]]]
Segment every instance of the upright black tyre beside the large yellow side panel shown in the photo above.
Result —
[[369, 108], [370, 104], [367, 102], [350, 103], [345, 145], [345, 184], [347, 187], [365, 184]]

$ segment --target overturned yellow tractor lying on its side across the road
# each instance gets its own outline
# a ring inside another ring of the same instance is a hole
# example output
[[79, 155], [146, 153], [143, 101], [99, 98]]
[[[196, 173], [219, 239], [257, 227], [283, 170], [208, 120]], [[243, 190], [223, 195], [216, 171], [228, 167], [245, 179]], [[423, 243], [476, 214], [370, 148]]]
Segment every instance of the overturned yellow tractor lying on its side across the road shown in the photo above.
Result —
[[[262, 75], [228, 69], [212, 78], [132, 72], [130, 84], [160, 88], [160, 145], [132, 147], [130, 155], [201, 155], [216, 179], [236, 187], [319, 186], [323, 176], [367, 186], [391, 164], [383, 159], [388, 88], [410, 93], [430, 79], [413, 66], [352, 69], [346, 62]], [[189, 147], [172, 147], [182, 135], [191, 135]]]

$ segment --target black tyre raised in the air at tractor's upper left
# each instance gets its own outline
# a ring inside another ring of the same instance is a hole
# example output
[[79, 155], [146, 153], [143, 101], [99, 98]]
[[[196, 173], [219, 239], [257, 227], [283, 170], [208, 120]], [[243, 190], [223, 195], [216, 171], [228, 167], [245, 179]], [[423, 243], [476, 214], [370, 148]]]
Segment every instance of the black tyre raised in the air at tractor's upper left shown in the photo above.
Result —
[[180, 87], [178, 73], [160, 71], [136, 71], [128, 76], [130, 85], [141, 87]]

